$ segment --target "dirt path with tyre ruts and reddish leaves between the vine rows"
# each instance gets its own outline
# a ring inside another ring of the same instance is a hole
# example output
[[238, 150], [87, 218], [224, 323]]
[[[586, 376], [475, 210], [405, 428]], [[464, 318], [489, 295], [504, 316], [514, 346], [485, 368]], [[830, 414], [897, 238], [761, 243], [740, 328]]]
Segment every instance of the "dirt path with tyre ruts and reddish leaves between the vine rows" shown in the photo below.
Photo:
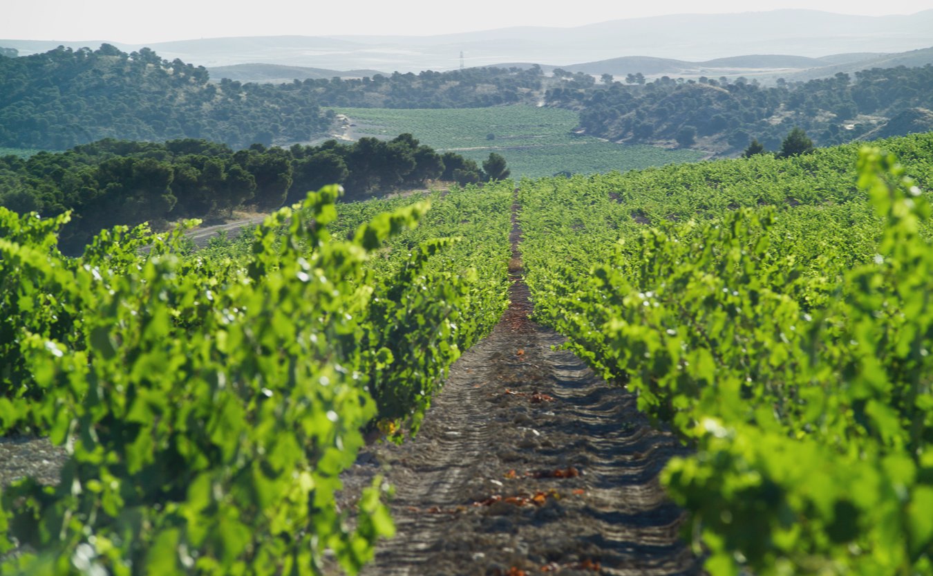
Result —
[[[515, 259], [519, 240], [513, 223]], [[397, 536], [362, 574], [699, 573], [658, 482], [682, 449], [632, 394], [551, 349], [563, 338], [528, 319], [520, 274], [510, 300], [453, 365], [418, 436], [370, 445], [344, 475], [349, 492], [376, 473], [396, 487]]]

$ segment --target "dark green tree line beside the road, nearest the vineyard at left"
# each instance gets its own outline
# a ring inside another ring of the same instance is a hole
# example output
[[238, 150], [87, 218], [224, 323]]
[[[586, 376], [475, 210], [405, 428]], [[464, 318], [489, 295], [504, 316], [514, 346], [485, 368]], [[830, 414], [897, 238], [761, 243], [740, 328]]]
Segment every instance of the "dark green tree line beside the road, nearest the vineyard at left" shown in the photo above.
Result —
[[[158, 144], [105, 139], [63, 153], [0, 158], [0, 206], [43, 217], [71, 210], [61, 240], [64, 250], [75, 252], [116, 224], [210, 218], [243, 204], [272, 209], [326, 184], [342, 184], [350, 200], [421, 187], [449, 173], [445, 161], [453, 171], [472, 165], [476, 178], [468, 181], [490, 177], [475, 162], [441, 156], [411, 134], [238, 151], [192, 138]], [[504, 161], [490, 162], [491, 176], [508, 176]]]

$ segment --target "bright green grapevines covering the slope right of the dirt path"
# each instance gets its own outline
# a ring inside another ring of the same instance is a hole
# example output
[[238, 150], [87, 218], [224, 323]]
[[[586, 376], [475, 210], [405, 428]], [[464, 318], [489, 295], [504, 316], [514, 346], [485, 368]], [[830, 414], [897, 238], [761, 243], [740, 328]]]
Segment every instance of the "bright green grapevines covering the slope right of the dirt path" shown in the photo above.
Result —
[[879, 144], [522, 183], [536, 313], [695, 450], [717, 576], [933, 573], [933, 134]]

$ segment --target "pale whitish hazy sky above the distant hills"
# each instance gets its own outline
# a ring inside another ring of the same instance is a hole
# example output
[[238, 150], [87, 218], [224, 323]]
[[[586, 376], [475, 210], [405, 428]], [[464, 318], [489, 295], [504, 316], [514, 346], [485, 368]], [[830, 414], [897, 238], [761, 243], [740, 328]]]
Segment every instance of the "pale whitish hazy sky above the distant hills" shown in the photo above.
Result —
[[661, 14], [801, 7], [843, 14], [912, 14], [933, 0], [8, 0], [0, 38], [151, 43], [245, 35], [433, 35], [506, 26], [577, 26]]

